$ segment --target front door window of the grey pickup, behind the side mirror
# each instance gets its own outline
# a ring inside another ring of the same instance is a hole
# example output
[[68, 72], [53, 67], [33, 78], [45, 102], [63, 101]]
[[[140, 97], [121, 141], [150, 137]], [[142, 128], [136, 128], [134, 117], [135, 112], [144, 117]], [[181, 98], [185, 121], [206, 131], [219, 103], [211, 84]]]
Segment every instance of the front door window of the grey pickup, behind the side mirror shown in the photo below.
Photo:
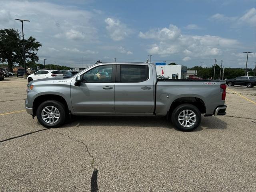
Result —
[[111, 82], [113, 65], [102, 65], [83, 75], [84, 82]]

